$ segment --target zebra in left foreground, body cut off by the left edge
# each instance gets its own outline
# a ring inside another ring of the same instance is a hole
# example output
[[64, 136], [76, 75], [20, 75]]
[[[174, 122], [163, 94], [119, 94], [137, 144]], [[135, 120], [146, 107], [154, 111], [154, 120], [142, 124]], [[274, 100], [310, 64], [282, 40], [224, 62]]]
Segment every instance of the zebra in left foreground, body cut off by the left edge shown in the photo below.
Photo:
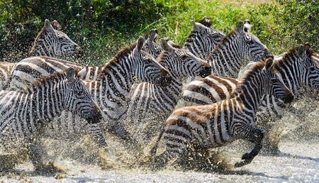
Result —
[[101, 109], [73, 68], [41, 77], [24, 91], [0, 91], [0, 139], [4, 147], [24, 142], [35, 170], [42, 167], [41, 154], [33, 140], [61, 111], [82, 116], [89, 123], [101, 121]]

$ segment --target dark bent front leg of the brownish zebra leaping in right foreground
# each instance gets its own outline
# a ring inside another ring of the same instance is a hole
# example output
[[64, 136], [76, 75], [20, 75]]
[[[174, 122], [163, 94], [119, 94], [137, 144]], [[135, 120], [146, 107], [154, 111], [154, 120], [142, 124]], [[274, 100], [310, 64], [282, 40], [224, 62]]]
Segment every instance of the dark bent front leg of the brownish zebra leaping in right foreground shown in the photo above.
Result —
[[242, 155], [242, 162], [236, 162], [235, 167], [242, 167], [244, 165], [250, 164], [254, 157], [258, 155], [259, 151], [262, 149], [262, 139], [264, 138], [264, 133], [259, 128], [251, 128], [251, 132], [247, 134], [247, 139], [254, 143], [254, 148], [250, 153], [245, 153]]

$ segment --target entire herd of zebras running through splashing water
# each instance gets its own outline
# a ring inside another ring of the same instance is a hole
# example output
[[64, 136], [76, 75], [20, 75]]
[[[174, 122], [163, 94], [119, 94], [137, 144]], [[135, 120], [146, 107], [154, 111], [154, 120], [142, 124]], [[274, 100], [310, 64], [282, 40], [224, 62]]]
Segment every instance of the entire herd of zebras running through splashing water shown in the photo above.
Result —
[[[274, 56], [249, 21], [227, 34], [207, 17], [191, 24], [183, 47], [168, 38], [157, 43], [152, 29], [105, 65], [88, 66], [69, 61], [82, 48], [45, 20], [30, 57], [0, 63], [0, 147], [22, 138], [36, 170], [45, 164], [39, 137], [79, 140], [84, 130], [105, 150], [106, 132], [142, 150], [152, 146], [149, 162], [159, 167], [240, 138], [254, 143], [235, 163], [242, 167], [262, 150], [264, 132], [264, 149], [278, 153], [267, 121], [281, 118], [301, 88], [319, 91], [318, 54], [305, 44]], [[166, 149], [158, 154], [161, 140]]]

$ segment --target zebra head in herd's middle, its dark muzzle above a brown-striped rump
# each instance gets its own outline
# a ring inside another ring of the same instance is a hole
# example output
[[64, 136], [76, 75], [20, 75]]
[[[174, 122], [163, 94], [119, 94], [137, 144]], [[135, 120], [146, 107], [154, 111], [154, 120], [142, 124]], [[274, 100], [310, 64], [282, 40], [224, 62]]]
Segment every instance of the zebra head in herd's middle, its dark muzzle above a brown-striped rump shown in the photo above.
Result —
[[[173, 44], [173, 45], [171, 45]], [[211, 74], [211, 66], [207, 61], [193, 55], [189, 50], [180, 48], [179, 45], [161, 39], [161, 52], [157, 61], [179, 78], [188, 76], [206, 77]]]

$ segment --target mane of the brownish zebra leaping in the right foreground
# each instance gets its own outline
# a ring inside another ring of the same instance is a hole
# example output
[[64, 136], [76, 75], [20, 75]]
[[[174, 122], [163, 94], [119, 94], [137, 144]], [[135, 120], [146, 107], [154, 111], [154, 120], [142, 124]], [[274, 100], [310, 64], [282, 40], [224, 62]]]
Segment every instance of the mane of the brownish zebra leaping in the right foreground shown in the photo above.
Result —
[[262, 69], [264, 69], [264, 65], [265, 65], [265, 60], [260, 60], [258, 62], [254, 62], [250, 66], [250, 69], [245, 72], [242, 79], [240, 79], [240, 82], [237, 86], [237, 89], [234, 92], [234, 94], [232, 94], [232, 96], [237, 96], [237, 94], [240, 93], [242, 91], [242, 89], [244, 89], [244, 87], [250, 83], [250, 80], [253, 79], [252, 75], [259, 73], [259, 72], [261, 72]]

